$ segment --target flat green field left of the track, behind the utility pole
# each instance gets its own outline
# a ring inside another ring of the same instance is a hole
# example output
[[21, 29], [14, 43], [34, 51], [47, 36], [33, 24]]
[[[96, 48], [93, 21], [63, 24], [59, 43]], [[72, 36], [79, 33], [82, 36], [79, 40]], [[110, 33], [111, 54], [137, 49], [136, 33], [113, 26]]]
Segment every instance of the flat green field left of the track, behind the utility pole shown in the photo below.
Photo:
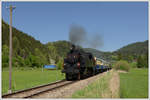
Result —
[[[60, 70], [13, 70], [12, 72], [12, 90], [22, 90], [31, 88], [37, 85], [42, 85], [56, 80], [64, 79], [64, 75]], [[8, 92], [9, 87], [9, 72], [7, 69], [2, 71], [2, 94]]]

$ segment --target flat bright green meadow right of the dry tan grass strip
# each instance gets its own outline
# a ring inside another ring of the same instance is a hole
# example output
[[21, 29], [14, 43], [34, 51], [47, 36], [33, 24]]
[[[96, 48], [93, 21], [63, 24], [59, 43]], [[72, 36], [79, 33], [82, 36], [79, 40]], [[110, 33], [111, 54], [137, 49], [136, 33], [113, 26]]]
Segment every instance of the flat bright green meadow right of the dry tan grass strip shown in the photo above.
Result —
[[121, 98], [148, 98], [148, 69], [120, 73]]

